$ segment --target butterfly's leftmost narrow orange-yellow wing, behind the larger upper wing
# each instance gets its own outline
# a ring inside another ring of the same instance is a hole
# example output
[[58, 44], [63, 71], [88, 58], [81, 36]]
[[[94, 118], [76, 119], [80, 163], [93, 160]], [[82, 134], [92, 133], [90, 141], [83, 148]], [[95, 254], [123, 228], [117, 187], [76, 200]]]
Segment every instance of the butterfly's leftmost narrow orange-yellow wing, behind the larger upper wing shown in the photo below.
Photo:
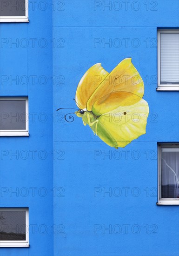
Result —
[[101, 63], [97, 63], [90, 67], [83, 75], [78, 84], [75, 96], [75, 100], [81, 109], [86, 108], [90, 96], [101, 83], [101, 79], [105, 79], [107, 74], [109, 73], [101, 67]]

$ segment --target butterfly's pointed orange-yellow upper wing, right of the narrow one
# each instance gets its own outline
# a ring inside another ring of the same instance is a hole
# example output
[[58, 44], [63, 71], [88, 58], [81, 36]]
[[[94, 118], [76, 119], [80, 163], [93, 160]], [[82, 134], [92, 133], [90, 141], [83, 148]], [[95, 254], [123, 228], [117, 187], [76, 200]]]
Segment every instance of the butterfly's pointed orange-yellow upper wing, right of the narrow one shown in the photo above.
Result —
[[120, 91], [131, 92], [141, 98], [144, 95], [144, 82], [133, 66], [131, 58], [124, 59], [111, 73], [107, 74], [87, 101], [87, 110], [92, 110], [94, 102], [104, 95]]

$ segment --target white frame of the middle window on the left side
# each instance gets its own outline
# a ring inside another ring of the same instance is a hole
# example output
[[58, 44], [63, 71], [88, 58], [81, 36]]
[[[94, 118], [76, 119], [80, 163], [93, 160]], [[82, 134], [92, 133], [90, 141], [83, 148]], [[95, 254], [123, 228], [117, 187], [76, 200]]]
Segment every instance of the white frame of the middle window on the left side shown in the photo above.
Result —
[[29, 115], [28, 115], [28, 97], [6, 97], [1, 96], [0, 100], [9, 101], [9, 100], [18, 100], [18, 101], [26, 101], [26, 129], [25, 130], [0, 130], [0, 136], [29, 136], [28, 129], [29, 129]]

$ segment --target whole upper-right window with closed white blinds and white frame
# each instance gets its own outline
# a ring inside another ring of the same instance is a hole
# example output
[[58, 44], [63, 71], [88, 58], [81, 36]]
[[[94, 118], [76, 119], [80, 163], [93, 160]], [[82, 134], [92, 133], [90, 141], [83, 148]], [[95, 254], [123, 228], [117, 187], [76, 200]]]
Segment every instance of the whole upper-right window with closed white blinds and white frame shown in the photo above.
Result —
[[158, 88], [179, 90], [179, 30], [158, 30]]

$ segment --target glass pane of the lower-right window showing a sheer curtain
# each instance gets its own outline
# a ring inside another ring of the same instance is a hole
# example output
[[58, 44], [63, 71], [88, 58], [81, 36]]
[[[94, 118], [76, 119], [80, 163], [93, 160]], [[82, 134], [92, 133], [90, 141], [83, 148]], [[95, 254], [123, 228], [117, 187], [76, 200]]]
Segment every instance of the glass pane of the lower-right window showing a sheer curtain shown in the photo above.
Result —
[[161, 148], [162, 198], [179, 198], [179, 148]]

